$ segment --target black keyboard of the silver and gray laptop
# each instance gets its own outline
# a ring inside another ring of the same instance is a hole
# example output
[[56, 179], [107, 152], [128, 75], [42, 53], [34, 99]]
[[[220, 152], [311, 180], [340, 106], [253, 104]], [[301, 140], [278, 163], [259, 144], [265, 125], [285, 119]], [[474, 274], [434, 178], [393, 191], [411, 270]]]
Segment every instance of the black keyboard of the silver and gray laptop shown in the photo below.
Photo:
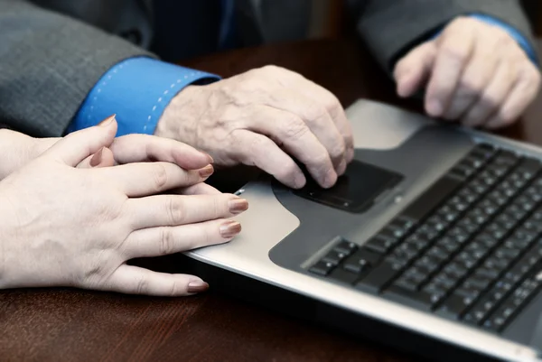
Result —
[[500, 332], [542, 284], [542, 164], [478, 144], [363, 246], [309, 270]]

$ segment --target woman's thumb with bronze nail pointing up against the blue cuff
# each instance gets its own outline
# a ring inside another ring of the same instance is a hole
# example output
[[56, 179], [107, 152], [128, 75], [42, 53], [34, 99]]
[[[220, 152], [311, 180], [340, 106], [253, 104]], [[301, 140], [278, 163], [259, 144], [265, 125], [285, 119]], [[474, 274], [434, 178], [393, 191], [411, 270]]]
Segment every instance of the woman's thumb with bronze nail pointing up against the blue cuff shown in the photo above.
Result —
[[43, 157], [51, 157], [75, 167], [89, 155], [97, 153], [102, 147], [110, 146], [115, 135], [117, 135], [117, 120], [113, 115], [98, 125], [63, 137], [43, 153]]

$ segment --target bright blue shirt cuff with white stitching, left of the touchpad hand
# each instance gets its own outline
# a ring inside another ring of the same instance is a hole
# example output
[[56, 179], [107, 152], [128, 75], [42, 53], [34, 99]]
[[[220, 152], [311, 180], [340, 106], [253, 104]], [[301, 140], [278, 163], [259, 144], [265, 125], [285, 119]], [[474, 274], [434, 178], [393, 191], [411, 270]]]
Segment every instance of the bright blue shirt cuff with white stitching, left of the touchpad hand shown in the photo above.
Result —
[[97, 125], [116, 114], [117, 135], [153, 135], [165, 107], [182, 88], [216, 80], [220, 77], [214, 74], [152, 58], [124, 60], [107, 70], [90, 90], [67, 131]]

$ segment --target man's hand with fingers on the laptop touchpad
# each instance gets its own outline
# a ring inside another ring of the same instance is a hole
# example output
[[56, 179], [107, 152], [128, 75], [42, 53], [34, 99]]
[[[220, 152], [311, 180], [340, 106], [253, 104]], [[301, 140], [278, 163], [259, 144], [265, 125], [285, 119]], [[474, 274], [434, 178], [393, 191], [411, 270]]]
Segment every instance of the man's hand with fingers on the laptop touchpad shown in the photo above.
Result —
[[293, 158], [329, 188], [354, 153], [337, 98], [274, 66], [185, 88], [166, 107], [155, 135], [210, 153], [217, 165], [255, 165], [293, 188], [306, 181]]

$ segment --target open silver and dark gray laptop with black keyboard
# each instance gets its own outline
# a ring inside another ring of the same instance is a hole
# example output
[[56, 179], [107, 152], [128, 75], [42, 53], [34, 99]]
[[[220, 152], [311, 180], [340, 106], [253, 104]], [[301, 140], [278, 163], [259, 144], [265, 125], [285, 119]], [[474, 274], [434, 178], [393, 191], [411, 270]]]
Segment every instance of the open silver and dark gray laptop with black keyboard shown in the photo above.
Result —
[[192, 273], [419, 358], [542, 361], [542, 149], [369, 100], [347, 116], [337, 185], [248, 182], [241, 235], [186, 253]]

